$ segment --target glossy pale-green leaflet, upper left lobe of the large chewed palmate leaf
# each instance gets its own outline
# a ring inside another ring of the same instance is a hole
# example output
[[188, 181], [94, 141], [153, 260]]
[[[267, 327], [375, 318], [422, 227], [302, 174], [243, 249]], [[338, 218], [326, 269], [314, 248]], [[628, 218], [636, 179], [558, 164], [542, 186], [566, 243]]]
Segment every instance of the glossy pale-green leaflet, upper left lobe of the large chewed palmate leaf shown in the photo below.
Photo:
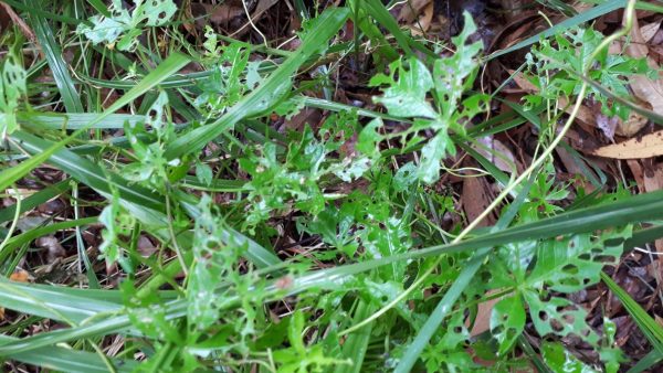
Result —
[[[389, 114], [403, 117], [435, 118], [436, 113], [429, 102], [427, 93], [433, 87], [433, 77], [425, 65], [411, 57], [408, 60], [408, 68], [402, 61], [396, 61], [390, 66], [391, 76], [378, 75], [371, 79], [371, 85], [388, 83], [391, 86], [383, 89], [383, 95], [373, 97], [378, 104], [385, 105]], [[393, 74], [398, 72], [398, 81]]]

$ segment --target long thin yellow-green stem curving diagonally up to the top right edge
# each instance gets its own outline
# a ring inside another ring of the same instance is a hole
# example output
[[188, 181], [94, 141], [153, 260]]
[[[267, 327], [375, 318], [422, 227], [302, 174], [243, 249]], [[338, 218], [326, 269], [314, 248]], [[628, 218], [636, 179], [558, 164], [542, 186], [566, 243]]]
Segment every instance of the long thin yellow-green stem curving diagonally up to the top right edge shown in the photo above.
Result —
[[[627, 22], [624, 28], [610, 35], [609, 38], [604, 39], [603, 42], [601, 42], [601, 44], [599, 44], [599, 46], [594, 50], [594, 52], [591, 54], [591, 56], [589, 57], [589, 62], [586, 66], [583, 66], [583, 72], [582, 75], [587, 75], [587, 71], [589, 71], [589, 67], [591, 66], [591, 63], [593, 63], [594, 57], [608, 45], [610, 45], [610, 43], [612, 43], [613, 41], [627, 35], [630, 31], [631, 28], [633, 26], [633, 11], [635, 9], [635, 0], [629, 0], [629, 4], [627, 6]], [[499, 193], [499, 195], [497, 195], [497, 198], [493, 201], [493, 203], [491, 203], [491, 205], [488, 205], [486, 207], [486, 210], [478, 215], [470, 225], [467, 225], [467, 227], [465, 227], [453, 241], [451, 244], [456, 244], [459, 243], [461, 239], [463, 239], [467, 234], [470, 234], [470, 232], [472, 230], [474, 230], [476, 227], [476, 225], [478, 225], [478, 223], [484, 220], [495, 207], [497, 207], [497, 205], [499, 205], [502, 203], [502, 201], [516, 188], [516, 185], [518, 185], [519, 183], [522, 183], [525, 179], [527, 179], [529, 177], [529, 174], [532, 174], [539, 166], [541, 166], [546, 159], [552, 153], [552, 151], [555, 150], [555, 148], [559, 145], [559, 142], [561, 142], [561, 140], [564, 139], [566, 132], [569, 130], [569, 128], [571, 128], [571, 125], [573, 124], [573, 121], [576, 120], [576, 117], [578, 116], [578, 111], [580, 110], [580, 106], [582, 105], [582, 99], [585, 97], [585, 94], [587, 93], [587, 82], [582, 82], [582, 86], [580, 87], [580, 92], [578, 93], [578, 97], [576, 98], [576, 103], [573, 104], [573, 109], [571, 110], [569, 118], [567, 119], [567, 121], [565, 122], [564, 127], [561, 128], [561, 130], [559, 131], [559, 134], [557, 135], [557, 137], [552, 140], [552, 142], [550, 142], [550, 146], [548, 148], [546, 148], [546, 150], [541, 153], [541, 156], [539, 158], [537, 158], [528, 168], [527, 170], [525, 170], [523, 172], [523, 174], [520, 174], [514, 182], [509, 183], [503, 191], [502, 193]], [[377, 312], [375, 312], [373, 315], [371, 315], [370, 317], [368, 317], [367, 319], [365, 319], [364, 321], [341, 331], [338, 333], [339, 337], [351, 333], [352, 331], [356, 331], [362, 327], [365, 327], [366, 324], [372, 322], [373, 320], [376, 320], [377, 318], [379, 318], [380, 316], [382, 316], [383, 313], [386, 313], [388, 310], [390, 310], [392, 307], [394, 307], [396, 305], [398, 305], [401, 300], [403, 300], [409, 294], [411, 294], [412, 291], [414, 291], [414, 289], [417, 289], [432, 273], [433, 270], [438, 267], [438, 265], [440, 264], [440, 262], [442, 260], [442, 257], [439, 257], [438, 259], [435, 259], [435, 262], [433, 263], [433, 265], [427, 269], [425, 273], [423, 273], [423, 275], [421, 275], [420, 278], [418, 278], [412, 285], [410, 285], [410, 287], [408, 289], [406, 289], [403, 292], [401, 292], [398, 297], [396, 297], [392, 301], [390, 301], [389, 303], [387, 303], [385, 307], [382, 307], [381, 309], [379, 309]]]

